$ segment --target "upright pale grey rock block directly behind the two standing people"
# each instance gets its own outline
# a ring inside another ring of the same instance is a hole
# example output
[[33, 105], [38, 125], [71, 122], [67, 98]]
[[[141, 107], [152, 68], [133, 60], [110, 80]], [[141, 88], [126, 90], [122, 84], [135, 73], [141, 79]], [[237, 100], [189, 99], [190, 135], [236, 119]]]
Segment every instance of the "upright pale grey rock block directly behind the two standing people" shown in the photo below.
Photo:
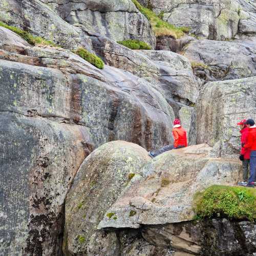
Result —
[[209, 82], [196, 104], [197, 143], [218, 147], [221, 156], [238, 157], [239, 120], [256, 118], [256, 77]]

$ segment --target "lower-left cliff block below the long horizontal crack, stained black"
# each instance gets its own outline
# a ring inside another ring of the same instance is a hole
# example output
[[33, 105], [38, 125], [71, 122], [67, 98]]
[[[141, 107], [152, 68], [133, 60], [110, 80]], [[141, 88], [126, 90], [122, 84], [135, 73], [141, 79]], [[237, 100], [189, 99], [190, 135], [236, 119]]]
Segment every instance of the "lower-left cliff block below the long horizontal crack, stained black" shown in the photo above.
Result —
[[0, 113], [0, 254], [60, 255], [63, 205], [93, 150], [90, 133], [1, 107]]

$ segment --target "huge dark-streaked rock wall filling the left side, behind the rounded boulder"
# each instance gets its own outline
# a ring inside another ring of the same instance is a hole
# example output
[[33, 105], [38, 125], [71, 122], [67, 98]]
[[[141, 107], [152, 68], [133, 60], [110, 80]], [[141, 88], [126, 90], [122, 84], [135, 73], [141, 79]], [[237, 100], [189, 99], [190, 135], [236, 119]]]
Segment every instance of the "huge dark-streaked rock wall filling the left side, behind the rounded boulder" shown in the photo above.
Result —
[[174, 113], [142, 78], [1, 31], [1, 253], [59, 255], [63, 203], [84, 158], [116, 139], [171, 143]]

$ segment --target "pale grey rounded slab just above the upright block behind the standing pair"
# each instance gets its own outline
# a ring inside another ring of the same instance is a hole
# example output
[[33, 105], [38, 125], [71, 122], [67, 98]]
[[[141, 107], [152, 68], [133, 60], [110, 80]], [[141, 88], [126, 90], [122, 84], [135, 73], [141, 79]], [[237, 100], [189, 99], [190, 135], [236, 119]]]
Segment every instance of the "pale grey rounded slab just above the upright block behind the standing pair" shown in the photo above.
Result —
[[[196, 66], [206, 66], [217, 80], [238, 79], [256, 75], [256, 40], [196, 40], [184, 50], [184, 56]], [[203, 67], [204, 67], [203, 66]]]

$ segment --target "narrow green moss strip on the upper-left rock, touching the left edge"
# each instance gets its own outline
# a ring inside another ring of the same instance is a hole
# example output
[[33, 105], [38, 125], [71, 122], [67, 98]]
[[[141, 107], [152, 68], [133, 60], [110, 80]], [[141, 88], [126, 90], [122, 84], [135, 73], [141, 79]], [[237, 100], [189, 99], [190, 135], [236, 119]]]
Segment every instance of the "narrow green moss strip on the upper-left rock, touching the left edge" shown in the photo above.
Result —
[[3, 22], [0, 22], [0, 26], [11, 30], [23, 39], [25, 39], [30, 45], [45, 45], [45, 46], [56, 46], [52, 41], [48, 41], [40, 36], [33, 36], [29, 32], [22, 29], [9, 26]]

